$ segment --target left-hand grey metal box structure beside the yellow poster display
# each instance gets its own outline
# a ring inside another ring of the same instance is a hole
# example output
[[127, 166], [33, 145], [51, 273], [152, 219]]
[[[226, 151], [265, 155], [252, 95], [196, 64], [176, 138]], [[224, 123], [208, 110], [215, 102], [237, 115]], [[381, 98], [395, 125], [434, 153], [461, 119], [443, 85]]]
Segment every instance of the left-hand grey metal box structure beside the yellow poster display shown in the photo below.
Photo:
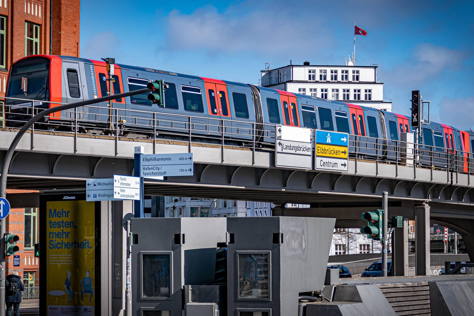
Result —
[[183, 287], [214, 282], [226, 218], [132, 218], [131, 231], [138, 237], [132, 246], [132, 315], [159, 310], [181, 316]]

